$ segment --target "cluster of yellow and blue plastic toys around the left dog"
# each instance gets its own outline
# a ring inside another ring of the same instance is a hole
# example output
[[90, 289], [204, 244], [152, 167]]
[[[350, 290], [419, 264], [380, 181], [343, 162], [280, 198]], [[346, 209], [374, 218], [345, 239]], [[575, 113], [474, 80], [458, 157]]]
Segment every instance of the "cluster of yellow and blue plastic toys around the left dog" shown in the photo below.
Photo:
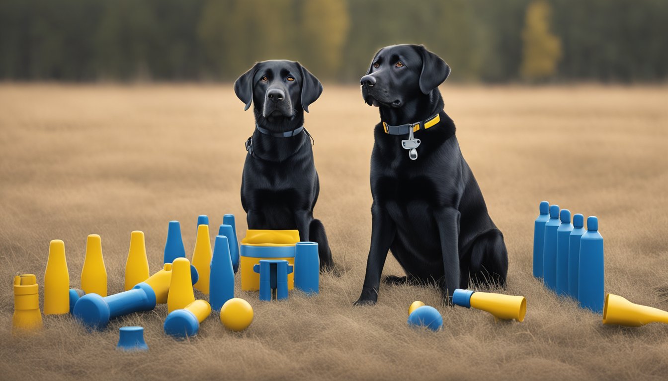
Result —
[[[296, 230], [248, 230], [239, 250], [234, 216], [226, 214], [212, 249], [208, 217], [199, 216], [197, 224], [191, 263], [186, 258], [179, 222], [169, 223], [164, 265], [152, 276], [144, 233], [132, 232], [125, 291], [109, 296], [100, 236], [88, 236], [81, 290], [70, 288], [64, 242], [51, 241], [44, 274], [44, 314], [72, 314], [91, 330], [102, 330], [113, 318], [167, 304], [165, 334], [189, 338], [198, 334], [200, 324], [212, 310], [220, 312], [220, 321], [229, 330], [241, 331], [251, 325], [251, 304], [234, 298], [234, 274], [239, 268], [242, 290], [259, 291], [260, 300], [285, 299], [295, 286], [308, 294], [319, 292], [317, 244], [299, 242]], [[195, 300], [194, 289], [208, 295], [208, 301]], [[14, 296], [13, 332], [39, 330], [42, 316], [35, 275], [17, 275]], [[120, 328], [118, 349], [148, 350], [144, 328]]]

